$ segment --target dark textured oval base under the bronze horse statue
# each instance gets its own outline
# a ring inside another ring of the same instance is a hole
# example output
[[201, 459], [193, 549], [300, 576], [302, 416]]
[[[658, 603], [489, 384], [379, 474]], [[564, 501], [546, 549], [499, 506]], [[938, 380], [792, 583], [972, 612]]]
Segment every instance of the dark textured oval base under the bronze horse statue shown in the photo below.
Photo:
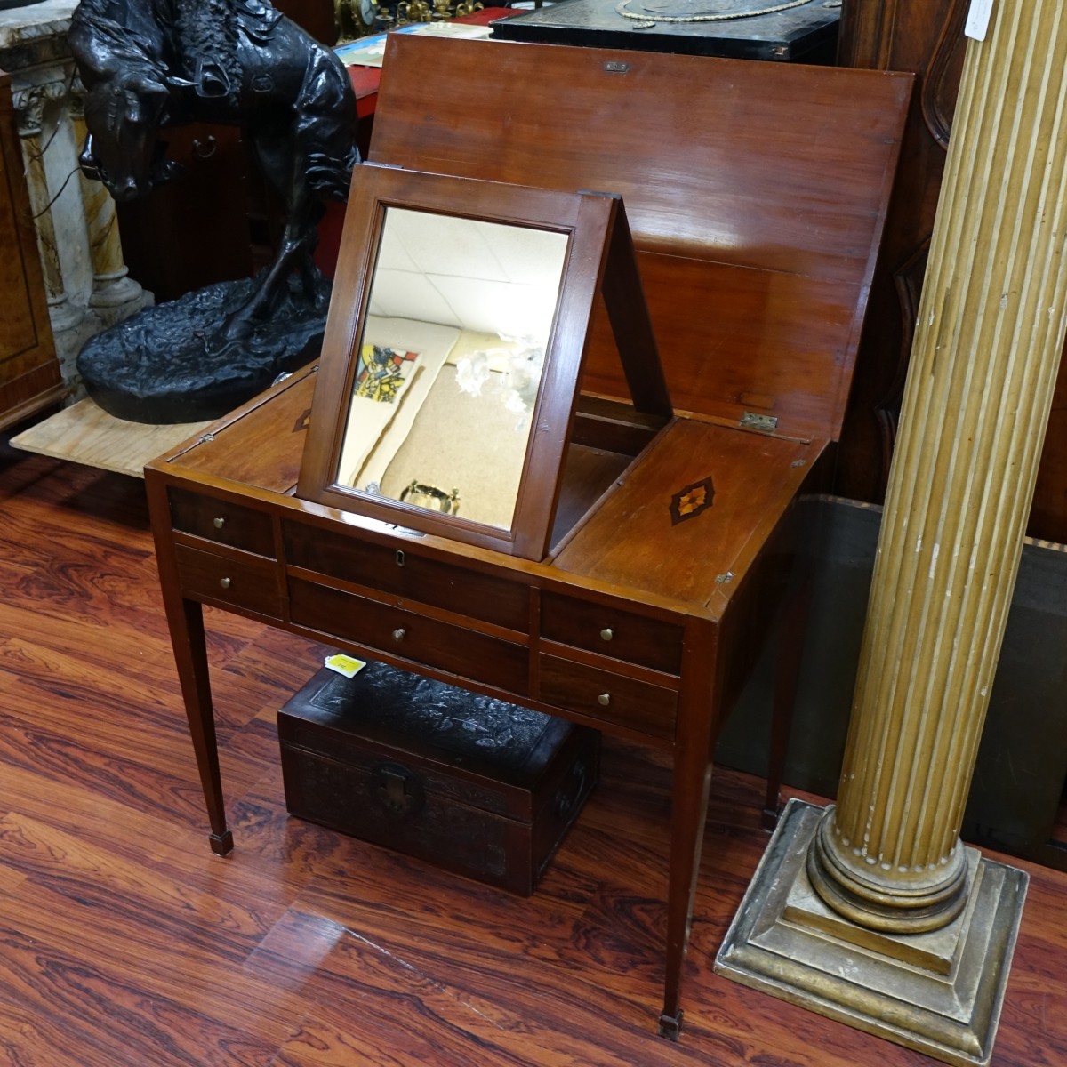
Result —
[[78, 355], [89, 396], [130, 423], [198, 423], [225, 415], [278, 375], [315, 360], [330, 297], [321, 275], [309, 296], [292, 280], [271, 319], [248, 338], [223, 339], [223, 323], [257, 284], [220, 282], [90, 338]]

